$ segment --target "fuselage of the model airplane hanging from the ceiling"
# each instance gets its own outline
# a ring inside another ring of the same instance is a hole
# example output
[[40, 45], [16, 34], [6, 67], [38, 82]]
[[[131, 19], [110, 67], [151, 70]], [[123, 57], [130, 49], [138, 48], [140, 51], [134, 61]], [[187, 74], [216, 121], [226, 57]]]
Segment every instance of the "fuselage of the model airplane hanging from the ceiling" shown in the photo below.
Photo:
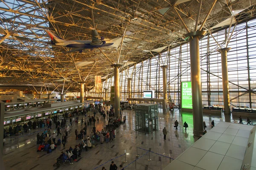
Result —
[[104, 40], [106, 43], [101, 45], [91, 45], [92, 41], [90, 40], [66, 40], [61, 43], [55, 43], [55, 45], [63, 46], [63, 47], [70, 47], [70, 48], [99, 48], [113, 45], [113, 41], [109, 39]]

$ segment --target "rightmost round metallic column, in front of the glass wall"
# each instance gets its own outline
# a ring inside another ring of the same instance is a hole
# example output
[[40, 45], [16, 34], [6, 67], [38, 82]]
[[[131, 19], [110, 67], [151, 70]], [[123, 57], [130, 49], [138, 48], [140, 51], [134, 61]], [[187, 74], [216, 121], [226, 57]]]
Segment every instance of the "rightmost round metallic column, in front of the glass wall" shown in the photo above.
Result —
[[[222, 89], [223, 89], [223, 101], [224, 101], [224, 113], [230, 114], [230, 97], [229, 97], [229, 84], [228, 84], [228, 72], [227, 72], [227, 52], [231, 48], [221, 48], [217, 51], [221, 53], [221, 71], [222, 71]], [[230, 116], [225, 116], [230, 119]], [[225, 120], [226, 122], [228, 120]], [[228, 121], [230, 122], [230, 120]]]

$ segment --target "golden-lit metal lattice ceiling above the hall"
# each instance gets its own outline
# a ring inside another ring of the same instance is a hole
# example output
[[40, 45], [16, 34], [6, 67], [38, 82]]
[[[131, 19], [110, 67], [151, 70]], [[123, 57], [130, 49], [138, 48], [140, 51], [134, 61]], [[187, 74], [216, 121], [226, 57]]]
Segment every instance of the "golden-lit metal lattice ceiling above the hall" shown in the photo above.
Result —
[[[62, 84], [79, 91], [85, 80], [113, 75], [185, 42], [197, 29], [217, 31], [256, 16], [256, 0], [1, 0], [0, 84]], [[44, 29], [67, 40], [90, 40], [91, 29], [109, 39], [123, 37], [119, 48], [83, 53], [49, 45]], [[120, 55], [119, 55], [120, 54]], [[57, 80], [57, 81], [56, 81]], [[103, 79], [104, 80], [104, 79]]]

